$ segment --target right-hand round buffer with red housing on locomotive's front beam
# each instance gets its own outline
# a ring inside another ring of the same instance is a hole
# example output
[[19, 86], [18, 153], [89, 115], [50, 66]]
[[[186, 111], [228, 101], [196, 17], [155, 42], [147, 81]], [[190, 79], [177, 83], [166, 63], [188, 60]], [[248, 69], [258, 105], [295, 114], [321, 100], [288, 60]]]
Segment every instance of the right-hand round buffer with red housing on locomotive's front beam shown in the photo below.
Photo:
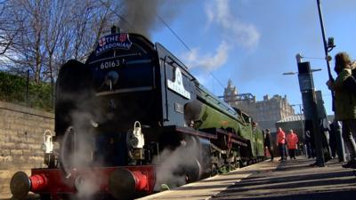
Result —
[[146, 174], [120, 168], [109, 176], [109, 193], [116, 199], [132, 199], [135, 194], [147, 190], [149, 180]]

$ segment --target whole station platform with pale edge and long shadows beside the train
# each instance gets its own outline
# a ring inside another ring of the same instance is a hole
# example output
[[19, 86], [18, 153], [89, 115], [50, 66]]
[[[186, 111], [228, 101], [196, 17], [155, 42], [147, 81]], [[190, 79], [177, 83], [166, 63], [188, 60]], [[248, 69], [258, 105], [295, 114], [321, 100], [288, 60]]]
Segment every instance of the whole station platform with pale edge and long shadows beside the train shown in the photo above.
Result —
[[[278, 160], [278, 159], [277, 159]], [[355, 200], [356, 176], [337, 159], [325, 167], [311, 166], [315, 160], [264, 161], [228, 174], [167, 190], [140, 200], [158, 199], [248, 199], [248, 200]]]

